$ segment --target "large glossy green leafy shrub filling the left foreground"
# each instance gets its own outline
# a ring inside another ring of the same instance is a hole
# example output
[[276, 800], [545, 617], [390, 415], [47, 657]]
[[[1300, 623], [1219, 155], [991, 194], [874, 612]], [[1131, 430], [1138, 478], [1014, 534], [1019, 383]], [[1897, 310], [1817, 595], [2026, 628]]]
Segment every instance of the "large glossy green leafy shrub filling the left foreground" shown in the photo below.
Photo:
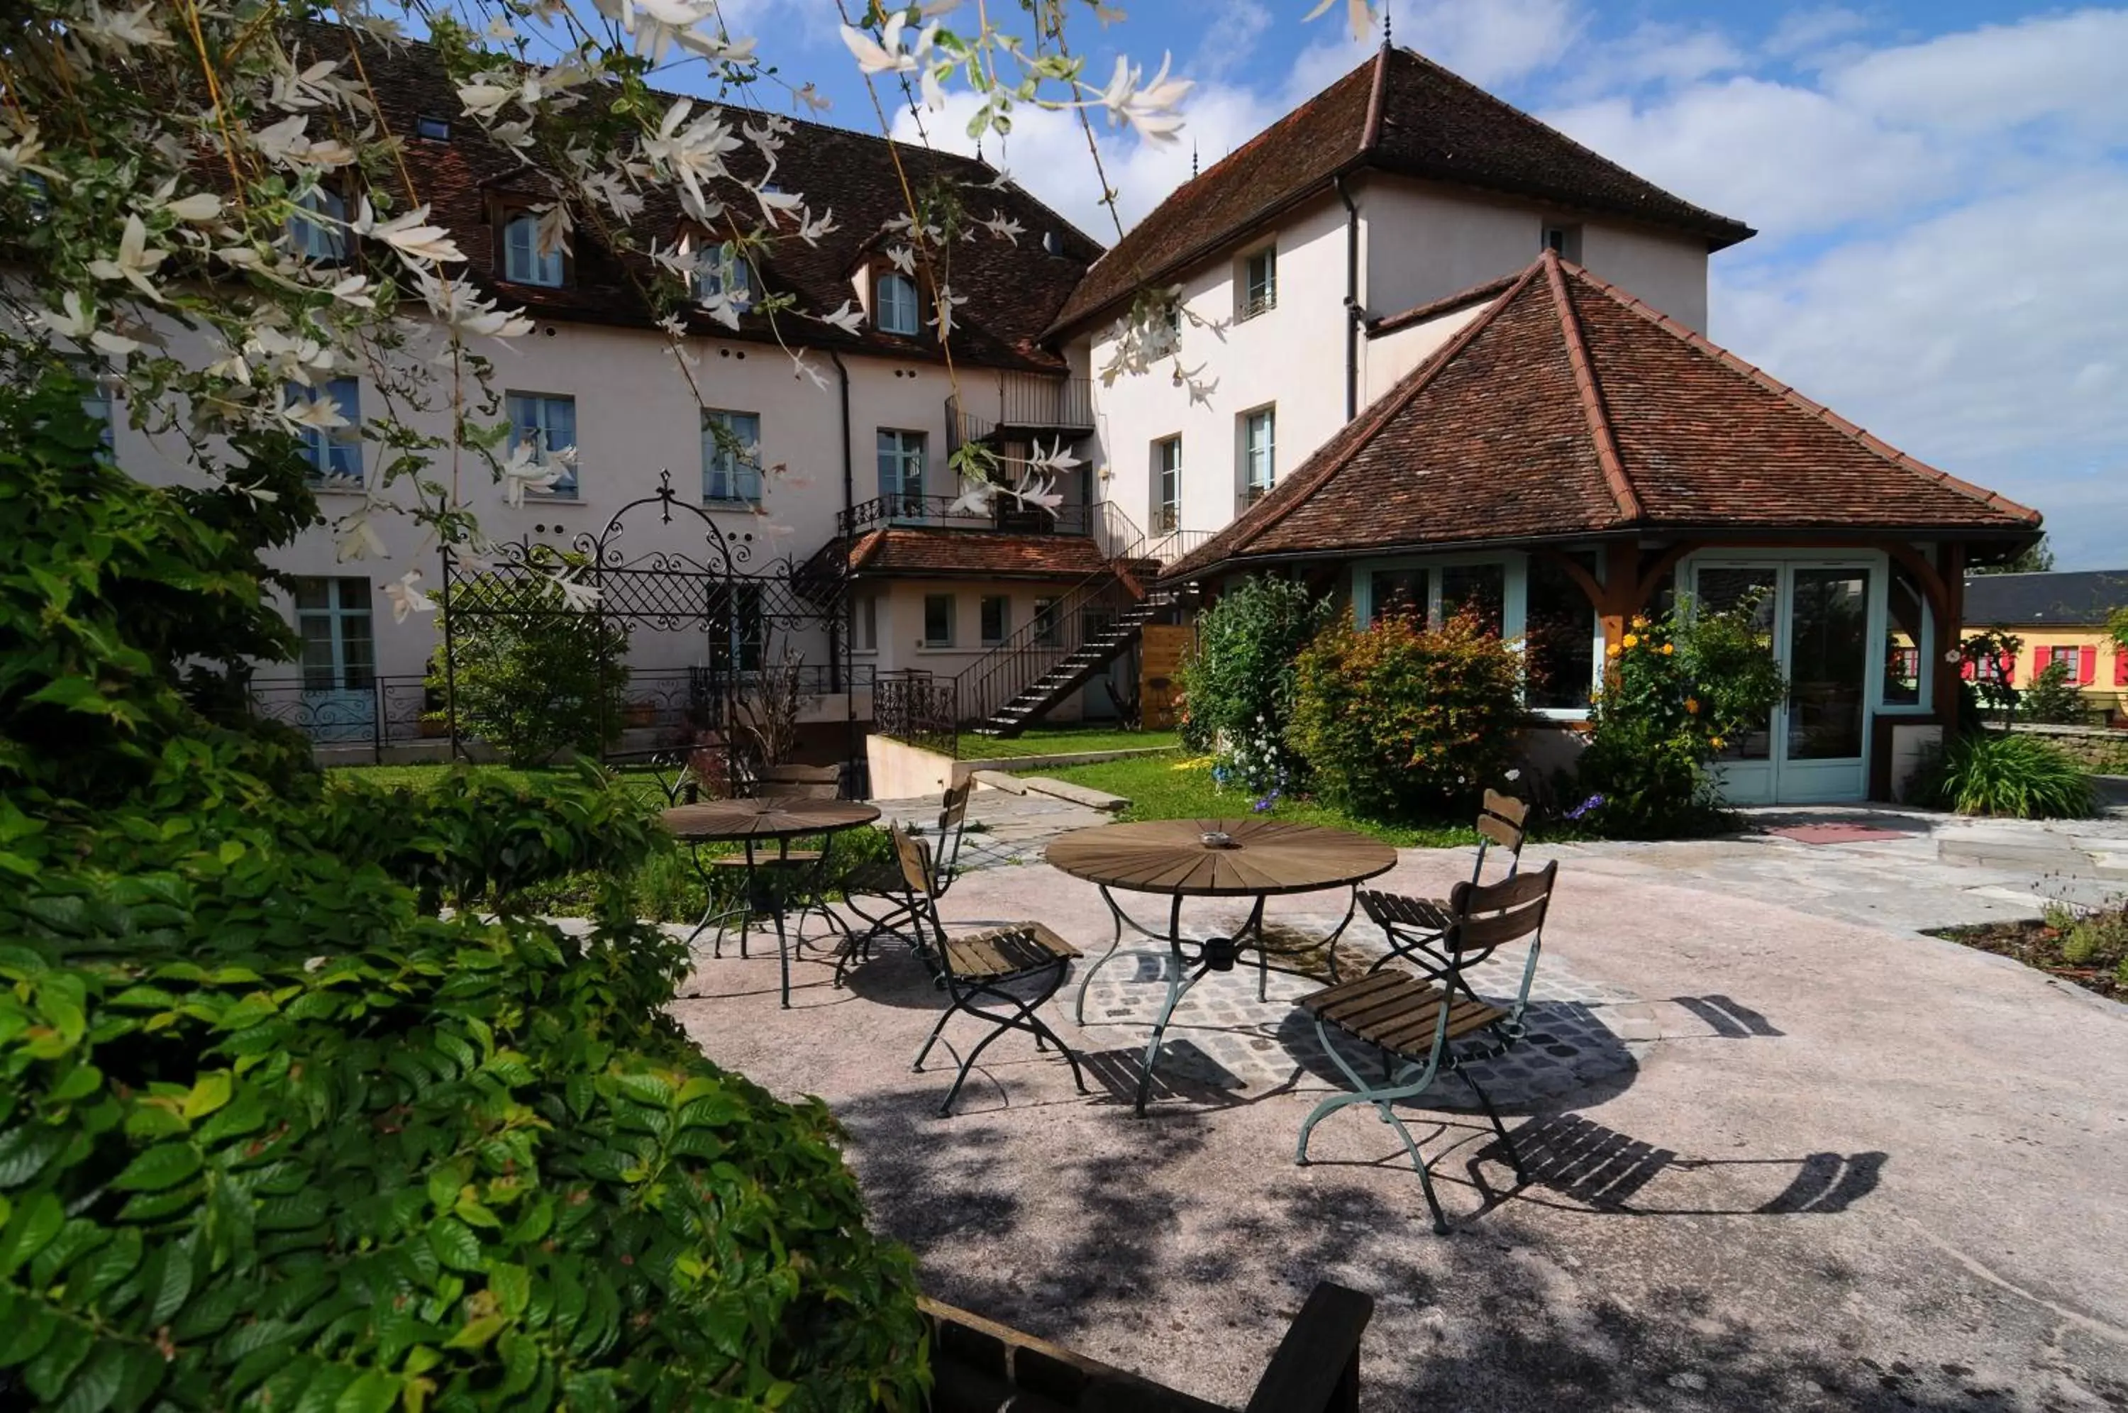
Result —
[[0, 389], [0, 1407], [921, 1407], [909, 1256], [664, 1013], [685, 947], [423, 896], [621, 866], [641, 807], [328, 789], [232, 706], [300, 515], [94, 445]]

